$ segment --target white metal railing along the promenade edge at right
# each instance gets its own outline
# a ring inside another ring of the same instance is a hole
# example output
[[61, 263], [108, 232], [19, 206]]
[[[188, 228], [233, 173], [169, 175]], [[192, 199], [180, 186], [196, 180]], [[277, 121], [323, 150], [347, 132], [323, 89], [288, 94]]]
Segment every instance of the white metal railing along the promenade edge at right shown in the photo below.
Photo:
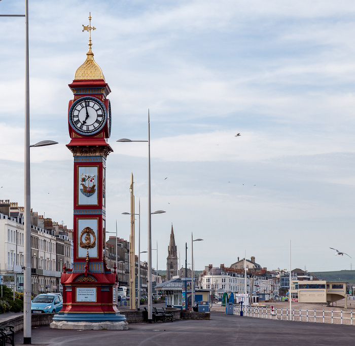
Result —
[[[352, 310], [312, 310], [277, 309], [271, 306], [243, 306], [243, 316], [280, 321], [299, 321], [313, 323], [334, 323], [352, 326]], [[240, 305], [233, 305], [233, 314], [240, 316]]]

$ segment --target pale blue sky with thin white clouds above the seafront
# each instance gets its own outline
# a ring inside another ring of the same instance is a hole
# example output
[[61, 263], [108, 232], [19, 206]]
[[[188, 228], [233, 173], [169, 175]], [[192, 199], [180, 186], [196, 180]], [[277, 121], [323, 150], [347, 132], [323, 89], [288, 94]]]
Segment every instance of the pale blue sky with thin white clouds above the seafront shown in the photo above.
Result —
[[[24, 11], [0, 1], [0, 14]], [[289, 270], [290, 241], [292, 268], [355, 268], [353, 1], [30, 0], [30, 142], [59, 143], [31, 148], [31, 208], [68, 228], [68, 84], [86, 59], [89, 12], [112, 91], [108, 232], [117, 220], [128, 240], [133, 173], [148, 247], [148, 146], [116, 140], [147, 140], [149, 109], [152, 211], [166, 211], [152, 215], [154, 267], [158, 252], [166, 269], [172, 225], [181, 265], [192, 233], [203, 239], [196, 270], [244, 253]], [[0, 199], [23, 206], [24, 18], [0, 17], [0, 32]]]

